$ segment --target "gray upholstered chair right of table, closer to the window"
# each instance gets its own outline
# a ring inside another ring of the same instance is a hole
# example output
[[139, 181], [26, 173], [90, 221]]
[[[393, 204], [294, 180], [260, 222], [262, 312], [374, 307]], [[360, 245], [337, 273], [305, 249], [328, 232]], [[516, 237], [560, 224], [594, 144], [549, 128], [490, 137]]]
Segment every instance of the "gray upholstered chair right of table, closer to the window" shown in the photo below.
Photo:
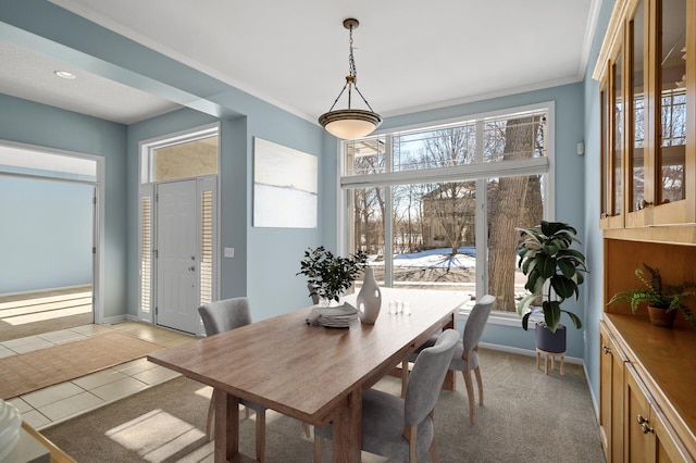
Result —
[[[481, 341], [481, 336], [486, 327], [486, 323], [488, 322], [488, 316], [490, 315], [495, 301], [496, 298], [490, 295], [486, 295], [481, 298], [481, 300], [476, 301], [476, 304], [469, 314], [469, 318], [467, 318], [463, 339], [457, 343], [457, 349], [455, 350], [455, 354], [452, 355], [452, 360], [449, 364], [449, 370], [460, 371], [464, 377], [467, 396], [469, 397], [469, 420], [471, 423], [474, 422], [476, 411], [471, 372], [473, 371], [476, 376], [476, 383], [478, 384], [478, 403], [483, 405], [483, 381], [481, 379], [481, 368], [478, 367], [478, 342]], [[436, 340], [437, 336], [432, 337], [421, 347], [421, 349], [433, 346]], [[410, 362], [413, 360], [413, 356], [409, 358]], [[402, 364], [401, 367], [408, 368], [408, 365]], [[403, 393], [403, 390], [401, 393]]]

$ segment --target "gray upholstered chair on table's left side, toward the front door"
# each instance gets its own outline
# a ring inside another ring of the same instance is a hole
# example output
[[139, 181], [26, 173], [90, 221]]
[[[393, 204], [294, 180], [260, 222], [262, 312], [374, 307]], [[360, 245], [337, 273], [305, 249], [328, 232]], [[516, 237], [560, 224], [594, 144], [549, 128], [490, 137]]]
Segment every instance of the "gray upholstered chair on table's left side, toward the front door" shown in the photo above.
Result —
[[[219, 333], [249, 325], [251, 323], [251, 310], [249, 308], [249, 299], [232, 298], [224, 299], [198, 308], [198, 313], [203, 321], [207, 336], [213, 336]], [[246, 408], [246, 415], [249, 417], [249, 409], [257, 414], [257, 442], [256, 452], [257, 461], [262, 462], [265, 453], [265, 408], [246, 400], [239, 401]], [[208, 440], [213, 437], [212, 421], [215, 413], [215, 391], [210, 400], [208, 409], [208, 422], [206, 423], [206, 436]], [[309, 425], [304, 424], [304, 434], [309, 437]]]

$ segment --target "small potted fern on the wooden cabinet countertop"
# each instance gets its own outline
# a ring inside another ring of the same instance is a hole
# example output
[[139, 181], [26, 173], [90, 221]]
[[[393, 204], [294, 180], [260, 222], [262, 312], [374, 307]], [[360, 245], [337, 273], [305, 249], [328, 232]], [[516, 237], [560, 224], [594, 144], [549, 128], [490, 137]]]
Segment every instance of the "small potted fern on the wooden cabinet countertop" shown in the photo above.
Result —
[[647, 303], [650, 323], [667, 328], [672, 327], [679, 310], [692, 327], [696, 328], [696, 315], [684, 305], [684, 298], [696, 295], [696, 284], [685, 281], [676, 286], [662, 285], [659, 268], [654, 268], [646, 263], [643, 263], [643, 266], [649, 274], [649, 278], [641, 267], [635, 270], [635, 276], [643, 283], [643, 286], [617, 292], [607, 304], [627, 302], [631, 304], [631, 311], [635, 314], [641, 303]]

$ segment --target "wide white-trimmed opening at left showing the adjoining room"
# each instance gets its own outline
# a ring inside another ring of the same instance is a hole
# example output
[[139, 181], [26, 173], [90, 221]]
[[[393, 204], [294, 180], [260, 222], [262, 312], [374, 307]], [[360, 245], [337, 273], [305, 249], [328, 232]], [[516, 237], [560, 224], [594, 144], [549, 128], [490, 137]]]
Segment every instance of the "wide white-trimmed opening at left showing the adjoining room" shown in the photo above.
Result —
[[99, 157], [0, 140], [0, 340], [99, 318]]

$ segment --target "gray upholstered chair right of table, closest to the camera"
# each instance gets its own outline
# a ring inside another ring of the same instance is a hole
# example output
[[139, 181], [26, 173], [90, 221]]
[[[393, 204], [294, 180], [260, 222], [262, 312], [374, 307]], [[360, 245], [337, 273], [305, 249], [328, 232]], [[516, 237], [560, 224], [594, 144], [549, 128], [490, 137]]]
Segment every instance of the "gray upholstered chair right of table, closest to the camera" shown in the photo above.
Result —
[[[459, 333], [447, 329], [419, 353], [405, 399], [376, 389], [363, 393], [362, 450], [413, 463], [430, 450], [433, 462], [439, 461], [433, 411], [458, 341]], [[322, 440], [332, 434], [331, 423], [314, 428], [314, 462], [322, 460]]]

